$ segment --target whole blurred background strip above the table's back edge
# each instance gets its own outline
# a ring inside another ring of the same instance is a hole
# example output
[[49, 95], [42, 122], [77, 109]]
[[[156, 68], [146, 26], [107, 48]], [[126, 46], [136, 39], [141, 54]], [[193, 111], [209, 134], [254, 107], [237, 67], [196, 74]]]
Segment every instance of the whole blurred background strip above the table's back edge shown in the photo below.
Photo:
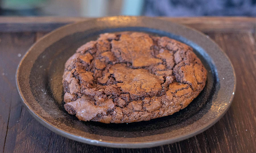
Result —
[[0, 0], [1, 16], [256, 16], [256, 0]]

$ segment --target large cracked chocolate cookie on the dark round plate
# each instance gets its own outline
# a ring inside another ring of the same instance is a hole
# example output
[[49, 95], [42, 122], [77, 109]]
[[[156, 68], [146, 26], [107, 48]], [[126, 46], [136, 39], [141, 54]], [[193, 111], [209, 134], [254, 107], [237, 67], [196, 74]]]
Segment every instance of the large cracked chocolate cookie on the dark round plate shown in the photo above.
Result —
[[171, 115], [203, 90], [192, 48], [146, 33], [104, 33], [65, 64], [65, 109], [79, 120], [129, 123]]

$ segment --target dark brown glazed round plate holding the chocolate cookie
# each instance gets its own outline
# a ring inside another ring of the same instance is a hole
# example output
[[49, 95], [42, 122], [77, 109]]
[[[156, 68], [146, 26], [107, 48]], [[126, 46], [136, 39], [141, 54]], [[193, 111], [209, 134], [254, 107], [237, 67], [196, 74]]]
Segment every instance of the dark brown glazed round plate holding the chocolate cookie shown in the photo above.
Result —
[[[63, 108], [65, 61], [100, 33], [143, 31], [167, 36], [193, 47], [208, 75], [204, 90], [188, 107], [150, 121], [129, 124], [82, 122]], [[236, 76], [230, 60], [206, 35], [150, 17], [116, 16], [61, 27], [36, 42], [20, 62], [17, 88], [24, 105], [41, 124], [70, 139], [100, 146], [143, 148], [174, 143], [216, 123], [234, 97]]]

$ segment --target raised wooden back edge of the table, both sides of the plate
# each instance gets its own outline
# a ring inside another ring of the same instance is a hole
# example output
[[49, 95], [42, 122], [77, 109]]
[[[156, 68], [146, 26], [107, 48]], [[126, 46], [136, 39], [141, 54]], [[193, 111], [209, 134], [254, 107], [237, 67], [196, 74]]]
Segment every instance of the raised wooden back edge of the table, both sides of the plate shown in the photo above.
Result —
[[[202, 32], [255, 32], [256, 18], [249, 17], [193, 17], [168, 18], [163, 20], [176, 22], [193, 27]], [[0, 32], [45, 31], [49, 32], [57, 27], [89, 20], [84, 17], [0, 17]]]

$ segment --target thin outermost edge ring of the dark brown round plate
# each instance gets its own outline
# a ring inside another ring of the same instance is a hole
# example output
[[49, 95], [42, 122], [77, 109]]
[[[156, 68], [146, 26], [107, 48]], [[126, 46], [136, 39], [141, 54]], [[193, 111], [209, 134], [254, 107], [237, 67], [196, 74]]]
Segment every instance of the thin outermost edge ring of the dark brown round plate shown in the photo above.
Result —
[[[50, 129], [51, 131], [63, 136], [63, 137], [66, 137], [66, 138], [69, 138], [69, 139], [73, 139], [75, 141], [79, 141], [79, 142], [82, 142], [82, 143], [87, 143], [87, 144], [90, 144], [90, 145], [96, 145], [96, 146], [106, 146], [106, 147], [113, 147], [113, 148], [147, 148], [147, 147], [153, 147], [153, 146], [159, 146], [159, 145], [166, 145], [166, 144], [170, 144], [170, 143], [175, 143], [175, 142], [178, 142], [178, 141], [182, 141], [184, 139], [188, 139], [190, 137], [193, 137], [199, 133], [202, 133], [203, 131], [205, 131], [206, 129], [210, 128], [212, 125], [214, 125], [216, 122], [218, 122], [220, 120], [220, 118], [222, 118], [224, 116], [224, 114], [226, 114], [226, 112], [228, 111], [228, 109], [230, 108], [231, 104], [232, 104], [232, 101], [234, 99], [234, 94], [231, 95], [231, 98], [230, 98], [230, 103], [228, 103], [228, 105], [226, 106], [226, 109], [224, 110], [224, 112], [222, 112], [219, 116], [215, 117], [213, 119], [213, 122], [210, 122], [209, 124], [204, 124], [205, 126], [203, 126], [203, 128], [200, 128], [200, 129], [196, 129], [196, 130], [193, 130], [192, 132], [190, 132], [189, 134], [183, 134], [183, 135], [179, 135], [178, 137], [174, 137], [174, 138], [170, 138], [170, 139], [164, 139], [164, 140], [156, 140], [156, 141], [147, 141], [147, 142], [143, 142], [143, 143], [136, 143], [136, 142], [124, 142], [124, 143], [116, 143], [114, 141], [99, 141], [99, 140], [94, 140], [94, 139], [89, 139], [89, 138], [86, 138], [86, 137], [81, 137], [79, 135], [75, 135], [75, 134], [72, 134], [72, 133], [69, 133], [69, 132], [66, 132], [66, 131], [63, 131], [59, 128], [56, 128], [55, 126], [51, 125], [50, 123], [48, 123], [46, 120], [44, 120], [43, 118], [41, 118], [36, 112], [34, 112], [30, 107], [29, 105], [27, 104], [27, 101], [26, 99], [24, 98], [23, 94], [22, 94], [22, 91], [20, 90], [20, 85], [19, 85], [19, 82], [18, 82], [18, 76], [19, 76], [19, 70], [20, 70], [20, 67], [22, 65], [22, 62], [24, 61], [24, 59], [26, 58], [26, 56], [30, 53], [30, 51], [32, 50], [32, 48], [34, 48], [34, 46], [41, 40], [45, 39], [46, 37], [48, 37], [49, 35], [52, 35], [52, 33], [55, 33], [56, 31], [60, 31], [62, 29], [65, 29], [66, 27], [69, 27], [69, 26], [73, 26], [73, 25], [76, 25], [76, 24], [80, 24], [80, 23], [83, 23], [83, 22], [90, 22], [90, 21], [94, 21], [94, 20], [106, 20], [106, 19], [109, 19], [109, 18], [112, 18], [112, 17], [115, 17], [115, 18], [122, 18], [122, 17], [125, 17], [125, 18], [148, 18], [148, 19], [153, 19], [153, 20], [163, 20], [165, 22], [170, 22], [172, 24], [176, 24], [178, 26], [181, 26], [183, 28], [186, 28], [186, 29], [190, 29], [190, 30], [193, 30], [201, 35], [203, 35], [204, 37], [207, 37], [207, 35], [205, 35], [204, 33], [202, 33], [201, 31], [198, 31], [196, 29], [193, 29], [191, 27], [188, 27], [188, 26], [185, 26], [185, 25], [181, 25], [181, 24], [177, 24], [175, 22], [171, 22], [171, 21], [167, 21], [167, 20], [164, 20], [164, 19], [161, 19], [161, 18], [155, 18], [155, 17], [146, 17], [146, 16], [108, 16], [108, 17], [102, 17], [102, 18], [92, 18], [92, 19], [89, 19], [89, 20], [82, 20], [82, 21], [79, 21], [79, 22], [75, 22], [73, 24], [67, 24], [67, 25], [64, 25], [64, 26], [61, 26], [49, 33], [47, 33], [46, 35], [44, 35], [42, 38], [40, 38], [38, 41], [36, 41], [29, 49], [28, 51], [26, 52], [26, 54], [24, 54], [24, 56], [22, 57], [17, 69], [16, 69], [16, 75], [15, 75], [15, 79], [16, 79], [16, 87], [17, 87], [17, 91], [18, 91], [18, 94], [20, 95], [20, 98], [22, 99], [22, 104], [26, 107], [26, 109], [30, 112], [30, 114], [38, 121], [40, 122], [42, 125], [44, 125], [46, 128]], [[233, 93], [236, 92], [236, 73], [235, 73], [235, 70], [234, 70], [234, 66], [232, 64], [232, 62], [230, 61], [230, 59], [228, 58], [228, 56], [226, 55], [226, 53], [222, 50], [222, 48], [220, 48], [220, 46], [218, 44], [216, 44], [216, 42], [214, 42], [210, 37], [207, 37], [207, 39], [209, 39], [212, 43], [214, 43], [219, 49], [220, 51], [224, 54], [224, 57], [226, 59], [228, 59], [228, 63], [230, 63], [231, 67], [232, 67], [232, 71], [233, 71], [233, 76], [234, 76], [234, 88], [233, 88]]]

